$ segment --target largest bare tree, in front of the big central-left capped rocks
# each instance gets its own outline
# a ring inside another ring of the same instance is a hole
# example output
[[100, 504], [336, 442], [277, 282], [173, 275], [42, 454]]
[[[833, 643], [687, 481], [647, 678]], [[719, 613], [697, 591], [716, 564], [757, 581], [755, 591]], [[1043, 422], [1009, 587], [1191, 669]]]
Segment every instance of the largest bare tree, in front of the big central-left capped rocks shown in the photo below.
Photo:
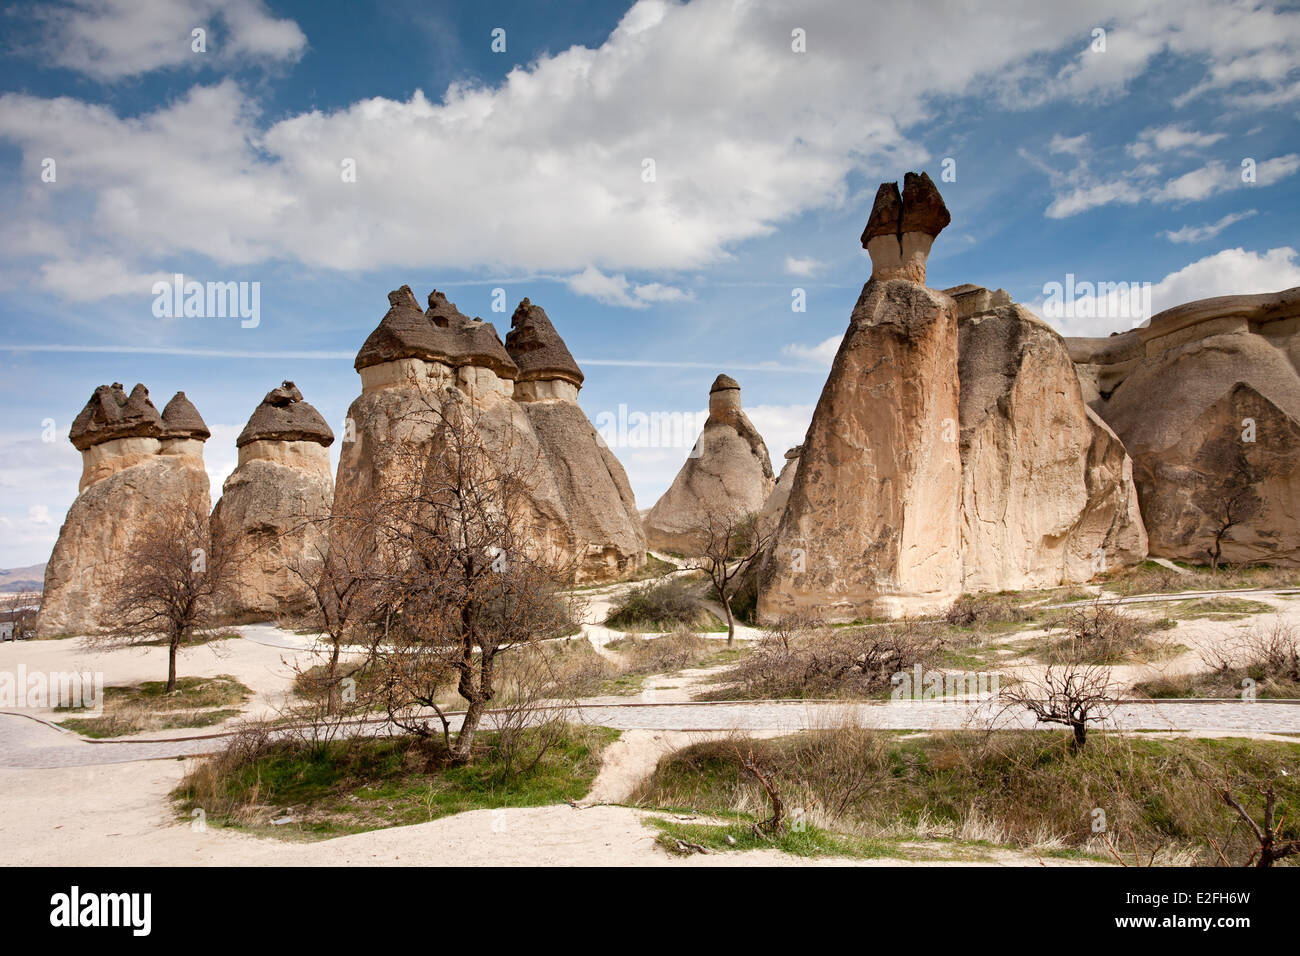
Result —
[[[393, 723], [436, 732], [452, 762], [471, 760], [497, 692], [498, 657], [572, 624], [562, 593], [571, 561], [547, 544], [530, 499], [536, 463], [480, 433], [455, 389], [421, 392], [432, 438], [394, 451], [374, 494], [382, 579], [372, 602], [372, 657]], [[465, 701], [451, 739], [439, 691]]]

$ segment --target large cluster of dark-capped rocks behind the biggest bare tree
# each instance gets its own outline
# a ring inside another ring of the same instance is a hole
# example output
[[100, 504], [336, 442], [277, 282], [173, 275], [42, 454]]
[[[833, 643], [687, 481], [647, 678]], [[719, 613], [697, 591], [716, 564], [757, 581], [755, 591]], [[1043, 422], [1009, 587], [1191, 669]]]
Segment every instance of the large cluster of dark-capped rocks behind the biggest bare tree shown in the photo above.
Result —
[[[529, 485], [530, 537], [540, 551], [573, 562], [580, 581], [640, 567], [645, 551], [630, 527], [630, 486], [577, 408], [582, 373], [545, 312], [528, 302], [516, 312], [512, 349], [521, 368], [490, 323], [463, 315], [437, 290], [426, 311], [410, 286], [389, 293], [389, 304], [356, 356], [361, 395], [348, 410], [335, 507], [364, 501], [411, 449], [437, 454], [438, 410], [451, 389], [465, 401], [484, 446]], [[584, 455], [595, 460], [577, 467]]]

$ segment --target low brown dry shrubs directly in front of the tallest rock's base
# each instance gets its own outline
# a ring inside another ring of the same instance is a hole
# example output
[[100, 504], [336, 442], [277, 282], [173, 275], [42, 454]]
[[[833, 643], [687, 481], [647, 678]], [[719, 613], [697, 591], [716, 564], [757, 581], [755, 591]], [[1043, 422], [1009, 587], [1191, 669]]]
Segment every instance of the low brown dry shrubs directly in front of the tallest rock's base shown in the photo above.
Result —
[[832, 628], [801, 618], [780, 622], [723, 678], [728, 697], [874, 697], [890, 678], [924, 666], [944, 646], [927, 624]]

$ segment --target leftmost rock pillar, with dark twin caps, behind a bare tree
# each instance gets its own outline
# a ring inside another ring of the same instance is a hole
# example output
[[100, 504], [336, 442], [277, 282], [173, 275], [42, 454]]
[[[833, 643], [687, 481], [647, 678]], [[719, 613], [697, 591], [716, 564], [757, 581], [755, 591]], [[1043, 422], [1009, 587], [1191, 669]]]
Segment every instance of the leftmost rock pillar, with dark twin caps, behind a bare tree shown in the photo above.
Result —
[[46, 566], [38, 636], [94, 633], [113, 624], [108, 601], [125, 557], [155, 515], [207, 514], [203, 442], [209, 432], [183, 392], [160, 415], [136, 385], [100, 385], [69, 434], [82, 453], [79, 494]]

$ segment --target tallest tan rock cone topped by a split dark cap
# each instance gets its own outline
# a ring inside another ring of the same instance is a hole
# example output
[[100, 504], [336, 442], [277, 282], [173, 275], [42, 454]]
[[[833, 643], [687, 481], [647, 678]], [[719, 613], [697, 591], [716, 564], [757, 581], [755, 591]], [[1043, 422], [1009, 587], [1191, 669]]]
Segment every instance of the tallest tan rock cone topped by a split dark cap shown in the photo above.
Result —
[[[878, 194], [881, 229], [892, 196]], [[930, 613], [961, 589], [957, 307], [922, 285], [946, 211], [927, 176], [906, 179], [901, 204], [901, 234], [864, 233], [872, 276], [759, 571], [763, 620]]]

